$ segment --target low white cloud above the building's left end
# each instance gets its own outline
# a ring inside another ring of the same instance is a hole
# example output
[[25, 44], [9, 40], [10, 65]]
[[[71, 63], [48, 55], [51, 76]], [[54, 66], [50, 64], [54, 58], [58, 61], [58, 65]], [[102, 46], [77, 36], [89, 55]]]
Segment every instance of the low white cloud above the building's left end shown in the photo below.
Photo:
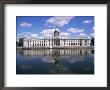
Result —
[[38, 34], [33, 34], [31, 32], [23, 32], [23, 33], [20, 33], [20, 34], [17, 34], [17, 38], [37, 38], [38, 37]]

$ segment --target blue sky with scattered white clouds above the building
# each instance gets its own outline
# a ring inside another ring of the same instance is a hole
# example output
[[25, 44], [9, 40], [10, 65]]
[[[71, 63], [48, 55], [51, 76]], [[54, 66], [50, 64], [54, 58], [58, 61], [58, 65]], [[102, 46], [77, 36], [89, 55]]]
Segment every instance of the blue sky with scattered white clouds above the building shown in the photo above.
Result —
[[94, 37], [94, 16], [16, 16], [16, 38]]

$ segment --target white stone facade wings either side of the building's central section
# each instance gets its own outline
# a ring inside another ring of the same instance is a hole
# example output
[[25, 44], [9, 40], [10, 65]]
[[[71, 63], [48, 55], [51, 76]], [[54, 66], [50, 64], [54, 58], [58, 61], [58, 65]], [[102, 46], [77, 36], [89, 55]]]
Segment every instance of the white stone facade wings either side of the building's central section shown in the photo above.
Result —
[[[49, 41], [50, 40], [50, 41]], [[85, 41], [86, 40], [86, 41]], [[63, 39], [60, 40], [60, 46], [61, 47], [80, 47], [80, 43], [82, 43], [82, 46], [90, 46], [90, 39], [83, 39], [80, 42], [80, 39], [65, 39], [65, 42]], [[24, 40], [23, 46], [24, 47], [52, 47], [52, 39], [36, 39], [36, 40]], [[54, 44], [54, 43], [53, 43]]]

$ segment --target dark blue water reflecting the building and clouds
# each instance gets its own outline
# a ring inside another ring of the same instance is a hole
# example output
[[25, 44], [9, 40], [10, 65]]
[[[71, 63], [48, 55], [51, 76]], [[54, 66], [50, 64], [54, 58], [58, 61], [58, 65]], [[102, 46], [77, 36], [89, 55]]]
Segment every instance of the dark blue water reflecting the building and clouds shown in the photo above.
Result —
[[17, 50], [17, 74], [93, 74], [94, 50]]

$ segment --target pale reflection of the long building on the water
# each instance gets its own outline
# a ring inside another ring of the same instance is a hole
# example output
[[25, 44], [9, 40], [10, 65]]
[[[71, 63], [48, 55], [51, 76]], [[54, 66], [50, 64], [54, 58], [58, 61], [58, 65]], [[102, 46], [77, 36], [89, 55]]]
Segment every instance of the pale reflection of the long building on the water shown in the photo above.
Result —
[[79, 56], [79, 55], [87, 55], [93, 53], [94, 50], [88, 49], [38, 49], [38, 50], [21, 50], [19, 53], [23, 56]]

